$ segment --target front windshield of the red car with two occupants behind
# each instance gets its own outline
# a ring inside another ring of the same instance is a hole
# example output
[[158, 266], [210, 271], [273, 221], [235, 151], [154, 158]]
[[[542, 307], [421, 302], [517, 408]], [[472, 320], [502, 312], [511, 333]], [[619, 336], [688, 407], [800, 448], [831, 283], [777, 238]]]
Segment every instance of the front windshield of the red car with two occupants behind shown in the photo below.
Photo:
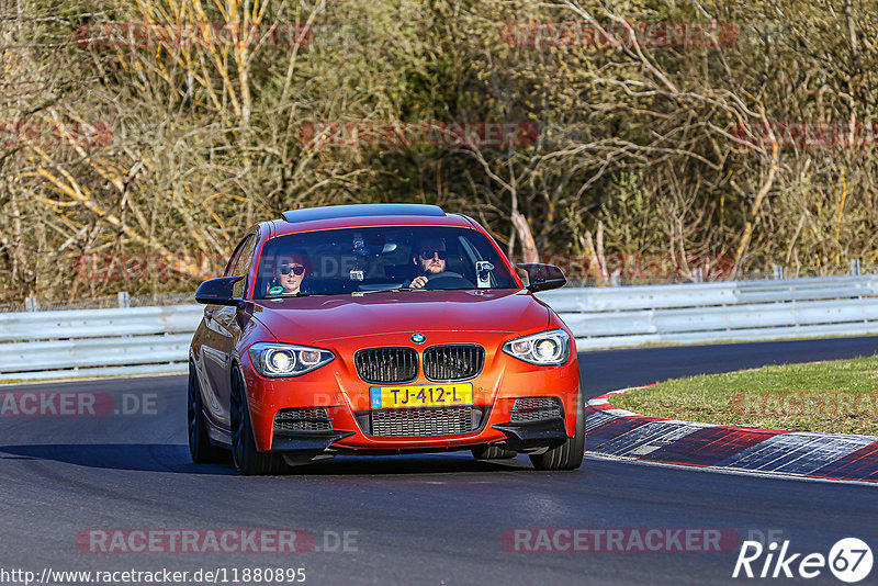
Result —
[[477, 230], [378, 226], [268, 240], [254, 297], [518, 286], [492, 243]]

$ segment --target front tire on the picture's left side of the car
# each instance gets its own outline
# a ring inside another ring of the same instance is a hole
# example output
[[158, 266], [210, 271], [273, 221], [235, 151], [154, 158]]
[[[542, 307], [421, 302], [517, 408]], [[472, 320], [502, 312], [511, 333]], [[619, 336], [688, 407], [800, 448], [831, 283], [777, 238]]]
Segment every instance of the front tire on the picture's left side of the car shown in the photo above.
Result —
[[244, 377], [238, 369], [232, 372], [229, 403], [232, 415], [232, 461], [235, 464], [235, 470], [247, 476], [282, 474], [289, 471], [290, 469], [281, 454], [260, 452], [256, 449]]

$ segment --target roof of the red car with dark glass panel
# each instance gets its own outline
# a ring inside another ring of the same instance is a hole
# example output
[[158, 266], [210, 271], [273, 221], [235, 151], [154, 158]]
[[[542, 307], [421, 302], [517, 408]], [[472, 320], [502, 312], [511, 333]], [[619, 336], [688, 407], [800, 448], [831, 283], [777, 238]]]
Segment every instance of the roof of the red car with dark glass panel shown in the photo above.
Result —
[[458, 226], [474, 228], [464, 216], [446, 214], [438, 205], [373, 203], [291, 210], [271, 222], [273, 236], [369, 226]]

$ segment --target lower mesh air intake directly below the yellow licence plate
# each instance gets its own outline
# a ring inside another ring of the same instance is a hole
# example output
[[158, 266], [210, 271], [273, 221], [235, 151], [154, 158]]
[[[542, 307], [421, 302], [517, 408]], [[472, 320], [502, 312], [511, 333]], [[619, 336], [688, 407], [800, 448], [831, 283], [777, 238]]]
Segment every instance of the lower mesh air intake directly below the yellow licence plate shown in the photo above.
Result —
[[374, 409], [370, 435], [378, 438], [453, 436], [479, 429], [481, 419], [482, 412], [471, 405]]

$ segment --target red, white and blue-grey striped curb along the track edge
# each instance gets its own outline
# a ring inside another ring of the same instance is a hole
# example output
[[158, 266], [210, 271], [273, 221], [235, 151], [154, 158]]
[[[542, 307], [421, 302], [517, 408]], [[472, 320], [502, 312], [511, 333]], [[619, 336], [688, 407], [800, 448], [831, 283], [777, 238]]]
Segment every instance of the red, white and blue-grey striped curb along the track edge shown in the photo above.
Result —
[[586, 448], [607, 458], [878, 483], [878, 437], [813, 433], [645, 417], [612, 406], [614, 391], [586, 404]]

